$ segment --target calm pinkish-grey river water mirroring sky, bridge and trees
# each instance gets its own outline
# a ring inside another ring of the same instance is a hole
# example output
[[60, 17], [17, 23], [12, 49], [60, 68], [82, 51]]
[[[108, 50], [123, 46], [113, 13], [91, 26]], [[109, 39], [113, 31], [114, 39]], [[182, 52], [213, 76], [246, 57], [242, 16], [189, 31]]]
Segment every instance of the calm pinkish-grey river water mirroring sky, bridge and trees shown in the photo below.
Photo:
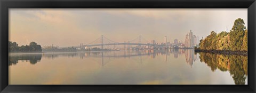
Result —
[[247, 85], [247, 56], [194, 50], [9, 54], [10, 85]]

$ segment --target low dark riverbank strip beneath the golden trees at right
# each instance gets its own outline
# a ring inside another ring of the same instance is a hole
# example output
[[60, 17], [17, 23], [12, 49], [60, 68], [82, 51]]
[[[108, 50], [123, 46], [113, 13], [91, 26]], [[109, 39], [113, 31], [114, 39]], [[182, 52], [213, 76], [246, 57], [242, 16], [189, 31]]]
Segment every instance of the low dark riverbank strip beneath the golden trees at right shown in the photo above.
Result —
[[247, 51], [228, 51], [228, 50], [199, 50], [195, 49], [195, 52], [206, 52], [206, 53], [219, 53], [219, 54], [236, 54], [236, 55], [247, 55]]

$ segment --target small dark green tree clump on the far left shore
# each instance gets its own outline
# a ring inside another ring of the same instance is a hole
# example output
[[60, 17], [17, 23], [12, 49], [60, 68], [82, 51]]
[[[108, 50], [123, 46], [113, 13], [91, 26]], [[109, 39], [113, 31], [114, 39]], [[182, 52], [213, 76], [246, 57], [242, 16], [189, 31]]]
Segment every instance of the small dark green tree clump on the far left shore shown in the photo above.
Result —
[[29, 45], [21, 45], [9, 41], [9, 52], [42, 52], [41, 45], [36, 42], [30, 42]]

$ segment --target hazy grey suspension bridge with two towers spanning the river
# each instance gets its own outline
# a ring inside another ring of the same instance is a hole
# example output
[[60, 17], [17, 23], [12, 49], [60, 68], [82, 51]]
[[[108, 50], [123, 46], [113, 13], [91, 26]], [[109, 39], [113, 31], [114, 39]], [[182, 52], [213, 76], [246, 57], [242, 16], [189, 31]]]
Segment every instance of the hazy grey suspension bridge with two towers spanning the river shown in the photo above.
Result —
[[[145, 41], [144, 43], [142, 43], [142, 40]], [[100, 41], [100, 42], [98, 42]], [[126, 48], [126, 45], [128, 45], [128, 49], [130, 49], [131, 45], [138, 45], [138, 47], [141, 49], [142, 45], [148, 46], [149, 47], [154, 47], [156, 44], [155, 43], [150, 43], [148, 42], [145, 38], [143, 38], [141, 35], [138, 36], [137, 38], [128, 41], [128, 42], [115, 42], [113, 40], [110, 40], [108, 38], [106, 38], [105, 36], [101, 35], [98, 39], [92, 41], [91, 43], [87, 43], [84, 44], [81, 43], [80, 45], [77, 46], [71, 46], [73, 48], [81, 48], [84, 49], [85, 47], [101, 47], [101, 49], [104, 49], [104, 46], [108, 46], [108, 45], [124, 45], [124, 48]], [[60, 47], [59, 49], [65, 49], [65, 48], [71, 48], [71, 47]]]

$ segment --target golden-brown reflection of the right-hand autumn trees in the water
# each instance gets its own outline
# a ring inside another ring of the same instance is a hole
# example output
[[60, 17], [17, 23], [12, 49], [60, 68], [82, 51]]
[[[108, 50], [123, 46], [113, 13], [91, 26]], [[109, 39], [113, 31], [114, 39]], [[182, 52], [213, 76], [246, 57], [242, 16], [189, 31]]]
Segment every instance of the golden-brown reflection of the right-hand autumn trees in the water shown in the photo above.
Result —
[[217, 68], [221, 71], [229, 71], [236, 85], [244, 85], [247, 73], [246, 55], [226, 55], [200, 52], [200, 61], [204, 62], [215, 71]]

